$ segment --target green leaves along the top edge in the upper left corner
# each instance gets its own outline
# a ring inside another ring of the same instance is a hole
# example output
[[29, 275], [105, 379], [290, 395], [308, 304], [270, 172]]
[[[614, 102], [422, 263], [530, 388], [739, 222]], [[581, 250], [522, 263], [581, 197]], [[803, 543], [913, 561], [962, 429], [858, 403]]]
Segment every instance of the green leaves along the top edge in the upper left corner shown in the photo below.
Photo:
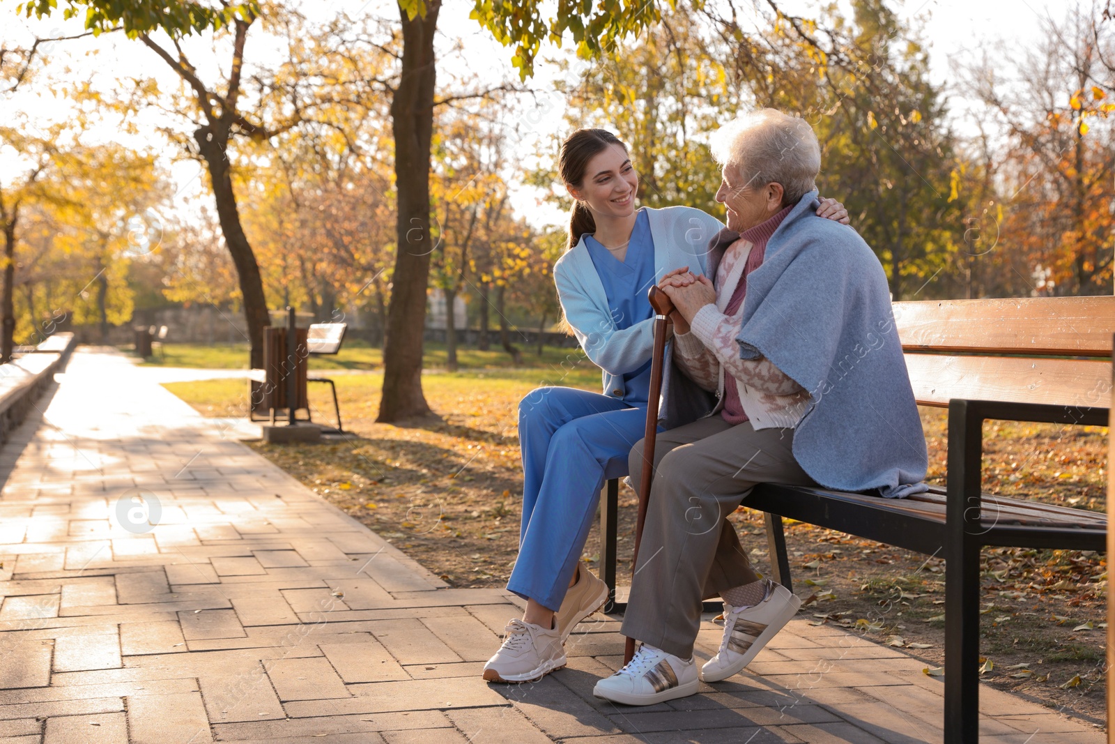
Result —
[[[245, 20], [259, 13], [258, 0], [239, 3], [206, 3], [182, 0], [65, 0], [62, 18], [85, 13], [85, 28], [95, 35], [123, 28], [130, 38], [162, 30], [182, 38], [206, 29], [220, 29], [236, 18]], [[50, 16], [58, 0], [27, 0], [16, 6], [28, 18]]]

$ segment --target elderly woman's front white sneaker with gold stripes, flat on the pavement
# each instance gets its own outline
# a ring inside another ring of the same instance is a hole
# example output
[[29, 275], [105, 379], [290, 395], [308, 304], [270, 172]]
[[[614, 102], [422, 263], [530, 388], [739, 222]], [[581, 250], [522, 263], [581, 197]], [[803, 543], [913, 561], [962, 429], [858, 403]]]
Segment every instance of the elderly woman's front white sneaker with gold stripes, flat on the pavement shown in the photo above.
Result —
[[696, 692], [697, 665], [692, 658], [679, 659], [646, 644], [626, 667], [592, 688], [597, 697], [627, 705], [653, 705]]

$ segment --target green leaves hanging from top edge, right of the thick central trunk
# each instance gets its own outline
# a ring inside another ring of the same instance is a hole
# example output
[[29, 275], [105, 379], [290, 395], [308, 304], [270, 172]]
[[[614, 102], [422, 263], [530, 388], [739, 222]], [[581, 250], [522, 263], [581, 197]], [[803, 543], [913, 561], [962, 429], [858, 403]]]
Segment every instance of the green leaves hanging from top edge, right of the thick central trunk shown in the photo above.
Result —
[[[411, 0], [411, 2], [421, 0]], [[656, 0], [608, 0], [594, 3], [588, 0], [559, 0], [558, 12], [546, 19], [540, 0], [475, 0], [471, 18], [492, 32], [507, 47], [515, 45], [511, 64], [518, 68], [525, 80], [534, 74], [534, 58], [543, 41], [561, 46], [565, 33], [576, 44], [582, 59], [601, 54], [614, 54], [619, 42], [629, 36], [638, 37], [657, 25], [662, 16]], [[672, 9], [677, 0], [668, 0]], [[695, 0], [697, 7], [702, 2]]]

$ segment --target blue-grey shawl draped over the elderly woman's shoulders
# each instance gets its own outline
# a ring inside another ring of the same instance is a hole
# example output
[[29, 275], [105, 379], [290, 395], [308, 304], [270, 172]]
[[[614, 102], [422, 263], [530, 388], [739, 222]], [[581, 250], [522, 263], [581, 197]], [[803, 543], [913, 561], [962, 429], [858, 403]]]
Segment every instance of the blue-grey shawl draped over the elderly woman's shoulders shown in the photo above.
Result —
[[768, 358], [811, 394], [794, 457], [821, 485], [902, 497], [928, 454], [879, 259], [802, 197], [747, 278], [739, 356]]

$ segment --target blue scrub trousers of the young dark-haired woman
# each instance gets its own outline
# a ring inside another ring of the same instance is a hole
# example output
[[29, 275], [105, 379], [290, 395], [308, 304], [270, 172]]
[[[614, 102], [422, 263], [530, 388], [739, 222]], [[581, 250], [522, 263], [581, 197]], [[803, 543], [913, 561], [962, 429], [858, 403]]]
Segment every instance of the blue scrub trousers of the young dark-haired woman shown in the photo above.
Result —
[[647, 404], [540, 387], [518, 404], [523, 522], [507, 589], [556, 611], [597, 514], [604, 481], [628, 474]]

